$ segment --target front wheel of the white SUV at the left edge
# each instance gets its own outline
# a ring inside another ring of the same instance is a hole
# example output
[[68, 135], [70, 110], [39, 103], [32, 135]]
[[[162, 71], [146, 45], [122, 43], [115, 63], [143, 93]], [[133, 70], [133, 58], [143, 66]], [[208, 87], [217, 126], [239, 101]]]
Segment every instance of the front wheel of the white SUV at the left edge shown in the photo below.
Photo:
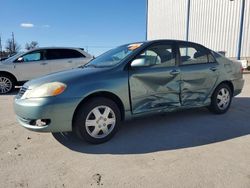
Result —
[[0, 74], [0, 94], [6, 94], [13, 91], [15, 80], [8, 74]]

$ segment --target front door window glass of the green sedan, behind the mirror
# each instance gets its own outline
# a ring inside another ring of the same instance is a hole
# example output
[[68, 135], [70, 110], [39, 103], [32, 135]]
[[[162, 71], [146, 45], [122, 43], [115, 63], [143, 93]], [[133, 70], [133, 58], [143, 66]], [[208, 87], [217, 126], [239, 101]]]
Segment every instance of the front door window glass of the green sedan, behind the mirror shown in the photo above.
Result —
[[[149, 47], [140, 54], [135, 61], [140, 60], [140, 64], [135, 66], [175, 66], [175, 56], [171, 45], [156, 45]], [[134, 63], [132, 63], [132, 66]]]

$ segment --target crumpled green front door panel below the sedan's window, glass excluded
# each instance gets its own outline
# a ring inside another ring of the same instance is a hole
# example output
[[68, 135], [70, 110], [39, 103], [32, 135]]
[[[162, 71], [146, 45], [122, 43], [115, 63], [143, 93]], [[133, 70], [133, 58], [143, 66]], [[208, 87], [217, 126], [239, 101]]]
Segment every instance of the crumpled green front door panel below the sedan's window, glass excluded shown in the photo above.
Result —
[[180, 107], [180, 75], [171, 75], [171, 70], [173, 68], [140, 68], [129, 72], [134, 114]]

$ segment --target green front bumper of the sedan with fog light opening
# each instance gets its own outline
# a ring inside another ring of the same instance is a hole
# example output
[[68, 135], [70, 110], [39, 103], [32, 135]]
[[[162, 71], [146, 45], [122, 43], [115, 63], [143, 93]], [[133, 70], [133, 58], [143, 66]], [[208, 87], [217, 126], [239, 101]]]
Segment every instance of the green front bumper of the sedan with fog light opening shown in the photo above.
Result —
[[[72, 131], [74, 111], [79, 104], [79, 98], [15, 98], [14, 110], [17, 121], [25, 128], [37, 132]], [[45, 126], [37, 126], [34, 121], [49, 120]], [[33, 122], [33, 123], [32, 123]]]

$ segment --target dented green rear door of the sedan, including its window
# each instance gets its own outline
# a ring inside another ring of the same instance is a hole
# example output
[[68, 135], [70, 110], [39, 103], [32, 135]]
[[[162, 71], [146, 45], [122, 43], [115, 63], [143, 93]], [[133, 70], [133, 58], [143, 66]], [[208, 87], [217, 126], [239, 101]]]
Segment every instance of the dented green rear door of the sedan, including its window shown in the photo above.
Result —
[[179, 48], [182, 106], [204, 106], [218, 79], [218, 63], [206, 48], [182, 43]]

